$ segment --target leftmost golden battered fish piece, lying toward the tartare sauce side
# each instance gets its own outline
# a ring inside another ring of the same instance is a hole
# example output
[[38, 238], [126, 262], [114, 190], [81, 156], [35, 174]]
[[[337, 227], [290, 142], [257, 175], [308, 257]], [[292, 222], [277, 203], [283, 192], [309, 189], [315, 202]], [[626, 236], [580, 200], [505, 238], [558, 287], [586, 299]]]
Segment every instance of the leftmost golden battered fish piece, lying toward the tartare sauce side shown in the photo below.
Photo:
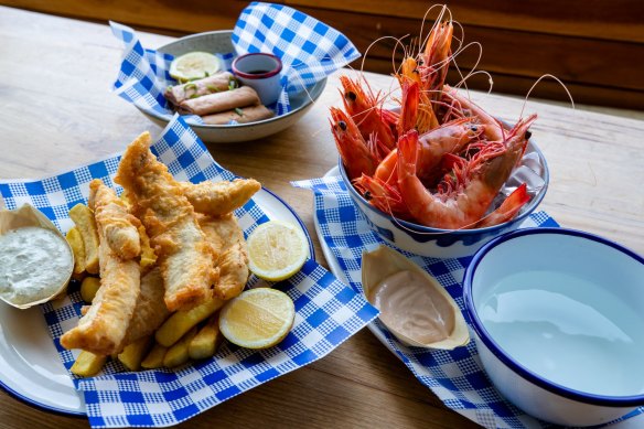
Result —
[[61, 344], [65, 348], [109, 355], [122, 348], [139, 297], [141, 272], [137, 260], [119, 258], [103, 237], [98, 260], [100, 288], [78, 325], [61, 336]]

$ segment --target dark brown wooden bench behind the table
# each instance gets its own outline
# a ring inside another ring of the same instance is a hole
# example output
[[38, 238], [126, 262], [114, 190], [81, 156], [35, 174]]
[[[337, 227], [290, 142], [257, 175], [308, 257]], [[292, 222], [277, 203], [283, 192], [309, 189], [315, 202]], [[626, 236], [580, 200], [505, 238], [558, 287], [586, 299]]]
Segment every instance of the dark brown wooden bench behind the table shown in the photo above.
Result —
[[[422, 17], [433, 4], [418, 0], [277, 2], [333, 25], [362, 53], [385, 35], [418, 35]], [[248, 1], [0, 0], [0, 3], [96, 22], [114, 20], [135, 29], [180, 36], [232, 29]], [[523, 97], [539, 76], [552, 74], [566, 83], [576, 103], [644, 110], [641, 0], [459, 0], [449, 6], [454, 20], [463, 26], [465, 42], [482, 44], [477, 68], [492, 74], [493, 92]], [[428, 25], [431, 22], [426, 29]], [[391, 73], [393, 49], [391, 40], [374, 45], [365, 69]], [[459, 56], [458, 64], [466, 73], [477, 56], [477, 51], [470, 49]], [[361, 62], [352, 66], [359, 68]], [[448, 77], [449, 83], [458, 81], [455, 72]], [[487, 89], [487, 78], [473, 78], [469, 86]], [[568, 99], [552, 79], [543, 81], [533, 97]]]

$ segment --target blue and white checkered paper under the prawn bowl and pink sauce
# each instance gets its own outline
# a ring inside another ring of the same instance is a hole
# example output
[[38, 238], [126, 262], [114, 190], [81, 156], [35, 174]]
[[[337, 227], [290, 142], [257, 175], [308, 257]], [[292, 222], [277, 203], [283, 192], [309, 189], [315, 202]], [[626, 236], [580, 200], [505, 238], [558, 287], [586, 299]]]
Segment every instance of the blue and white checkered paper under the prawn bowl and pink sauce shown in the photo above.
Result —
[[[362, 293], [362, 253], [365, 248], [374, 249], [384, 242], [372, 232], [362, 214], [355, 208], [340, 176], [293, 182], [293, 185], [314, 191], [315, 217], [321, 238], [331, 249], [343, 271], [342, 275], [337, 272], [336, 275], [356, 292]], [[529, 226], [559, 225], [545, 212], [538, 212], [530, 215], [522, 225], [522, 227]], [[437, 259], [405, 251], [404, 254], [433, 275], [465, 314], [462, 279], [472, 257]], [[416, 378], [454, 411], [490, 429], [551, 427], [526, 415], [500, 396], [483, 372], [473, 341], [466, 347], [458, 347], [451, 352], [425, 351], [401, 344], [379, 320], [376, 320], [373, 326]], [[644, 412], [644, 407], [621, 420], [642, 412]]]

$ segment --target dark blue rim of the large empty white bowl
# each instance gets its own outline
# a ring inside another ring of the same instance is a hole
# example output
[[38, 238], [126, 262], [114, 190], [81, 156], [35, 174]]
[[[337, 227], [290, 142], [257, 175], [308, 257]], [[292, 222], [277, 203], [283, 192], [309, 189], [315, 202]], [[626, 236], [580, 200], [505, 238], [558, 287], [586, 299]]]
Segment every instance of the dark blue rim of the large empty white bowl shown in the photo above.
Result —
[[507, 233], [501, 235], [496, 238], [493, 238], [491, 242], [485, 244], [476, 254], [474, 255], [472, 261], [465, 269], [465, 275], [463, 277], [463, 301], [465, 303], [465, 310], [470, 317], [471, 326], [476, 332], [479, 339], [485, 344], [485, 346], [501, 361], [503, 362], [509, 369], [512, 369], [515, 374], [519, 375], [520, 377], [525, 378], [526, 380], [556, 395], [566, 397], [568, 399], [572, 399], [576, 401], [590, 404], [590, 405], [599, 405], [604, 407], [632, 407], [632, 406], [641, 406], [644, 405], [644, 394], [640, 395], [630, 395], [630, 396], [610, 396], [610, 395], [597, 395], [597, 394], [589, 394], [581, 390], [568, 388], [560, 384], [554, 383], [536, 374], [535, 372], [526, 368], [518, 362], [516, 362], [509, 354], [507, 354], [490, 335], [487, 330], [483, 326], [483, 322], [479, 318], [476, 309], [474, 307], [474, 299], [472, 296], [472, 279], [476, 271], [476, 268], [481, 260], [485, 257], [485, 255], [495, 248], [496, 246], [518, 238], [526, 235], [536, 235], [536, 234], [555, 234], [555, 235], [570, 235], [576, 237], [581, 237], [584, 239], [589, 239], [592, 242], [597, 242], [599, 244], [612, 247], [618, 251], [624, 254], [626, 257], [631, 257], [638, 261], [640, 264], [644, 265], [644, 258], [637, 255], [636, 253], [623, 247], [622, 245], [611, 242], [607, 238], [597, 236], [594, 234], [590, 234], [583, 230], [577, 229], [569, 229], [569, 228], [561, 228], [561, 227], [530, 227], [530, 228], [523, 228], [517, 229], [512, 233]]

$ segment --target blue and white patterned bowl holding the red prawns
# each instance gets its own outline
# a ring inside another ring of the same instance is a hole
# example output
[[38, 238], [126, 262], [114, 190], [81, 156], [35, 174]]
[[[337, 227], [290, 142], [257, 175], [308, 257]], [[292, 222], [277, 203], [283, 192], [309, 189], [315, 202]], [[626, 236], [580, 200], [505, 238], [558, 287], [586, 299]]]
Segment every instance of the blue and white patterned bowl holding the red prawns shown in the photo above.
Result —
[[512, 221], [473, 229], [440, 229], [401, 221], [371, 205], [363, 195], [351, 184], [342, 159], [339, 161], [339, 170], [348, 194], [354, 204], [367, 221], [372, 229], [385, 242], [393, 246], [421, 256], [434, 258], [460, 258], [472, 256], [476, 250], [492, 238], [516, 229], [520, 223], [539, 205], [550, 180], [546, 159], [534, 141], [529, 140], [526, 153], [532, 153], [538, 161], [538, 171], [543, 185], [535, 190], [530, 201], [522, 207], [519, 214]]

